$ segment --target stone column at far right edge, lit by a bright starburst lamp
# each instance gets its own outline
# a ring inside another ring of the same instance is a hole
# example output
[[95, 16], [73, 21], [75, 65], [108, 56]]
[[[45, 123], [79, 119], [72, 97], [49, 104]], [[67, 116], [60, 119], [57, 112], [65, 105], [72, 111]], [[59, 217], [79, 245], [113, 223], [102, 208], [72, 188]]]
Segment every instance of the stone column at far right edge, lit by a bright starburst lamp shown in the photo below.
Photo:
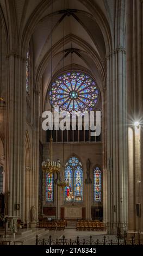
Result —
[[[128, 233], [143, 239], [143, 1], [127, 0]], [[134, 122], [140, 125], [134, 127]], [[139, 210], [139, 211], [138, 211]]]

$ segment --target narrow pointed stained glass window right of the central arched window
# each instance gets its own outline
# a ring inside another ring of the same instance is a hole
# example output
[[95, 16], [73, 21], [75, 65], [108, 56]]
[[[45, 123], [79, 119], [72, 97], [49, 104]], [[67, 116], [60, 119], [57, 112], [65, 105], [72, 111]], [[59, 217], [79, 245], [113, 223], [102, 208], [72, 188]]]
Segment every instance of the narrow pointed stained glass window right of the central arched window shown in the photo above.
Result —
[[94, 170], [94, 202], [101, 202], [101, 170], [96, 167]]

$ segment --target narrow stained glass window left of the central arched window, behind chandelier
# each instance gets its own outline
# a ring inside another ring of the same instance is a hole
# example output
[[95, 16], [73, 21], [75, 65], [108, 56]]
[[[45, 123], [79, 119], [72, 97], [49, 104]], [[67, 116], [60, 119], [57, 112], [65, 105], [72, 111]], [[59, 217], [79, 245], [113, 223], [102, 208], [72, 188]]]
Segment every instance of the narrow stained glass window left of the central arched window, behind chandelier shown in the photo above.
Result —
[[46, 202], [53, 202], [54, 192], [54, 175], [52, 177], [49, 173], [46, 174]]

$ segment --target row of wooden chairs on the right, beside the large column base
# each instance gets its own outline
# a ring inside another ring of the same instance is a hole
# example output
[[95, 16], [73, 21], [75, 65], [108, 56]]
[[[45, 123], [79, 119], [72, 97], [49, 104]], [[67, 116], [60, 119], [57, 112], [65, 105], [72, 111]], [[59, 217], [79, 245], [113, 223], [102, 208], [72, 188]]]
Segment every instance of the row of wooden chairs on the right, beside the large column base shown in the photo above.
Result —
[[100, 221], [78, 221], [76, 224], [77, 230], [97, 230], [97, 231], [104, 231], [105, 224]]

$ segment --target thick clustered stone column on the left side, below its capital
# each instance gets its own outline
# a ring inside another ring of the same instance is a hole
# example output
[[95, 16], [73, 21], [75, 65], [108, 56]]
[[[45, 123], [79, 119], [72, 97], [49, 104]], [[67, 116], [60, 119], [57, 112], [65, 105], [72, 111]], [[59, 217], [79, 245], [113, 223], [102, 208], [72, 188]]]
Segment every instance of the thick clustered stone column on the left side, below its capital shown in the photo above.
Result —
[[[25, 200], [25, 112], [26, 112], [26, 59], [17, 53], [7, 56], [7, 125], [5, 170], [7, 214], [24, 221]], [[15, 210], [20, 204], [20, 210]]]

